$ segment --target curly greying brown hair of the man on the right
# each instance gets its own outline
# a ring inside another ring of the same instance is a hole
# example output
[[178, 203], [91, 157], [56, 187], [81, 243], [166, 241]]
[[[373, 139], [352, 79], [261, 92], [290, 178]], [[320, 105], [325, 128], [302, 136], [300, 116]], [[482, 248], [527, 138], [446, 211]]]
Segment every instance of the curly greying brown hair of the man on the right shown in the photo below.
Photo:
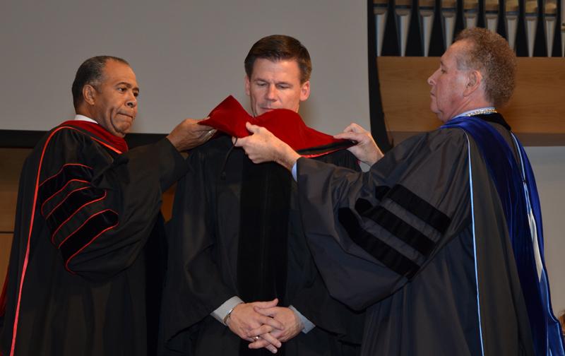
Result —
[[480, 71], [484, 94], [494, 106], [510, 100], [516, 87], [516, 54], [501, 35], [485, 28], [468, 28], [456, 41], [469, 41], [471, 46], [457, 58], [459, 69]]

